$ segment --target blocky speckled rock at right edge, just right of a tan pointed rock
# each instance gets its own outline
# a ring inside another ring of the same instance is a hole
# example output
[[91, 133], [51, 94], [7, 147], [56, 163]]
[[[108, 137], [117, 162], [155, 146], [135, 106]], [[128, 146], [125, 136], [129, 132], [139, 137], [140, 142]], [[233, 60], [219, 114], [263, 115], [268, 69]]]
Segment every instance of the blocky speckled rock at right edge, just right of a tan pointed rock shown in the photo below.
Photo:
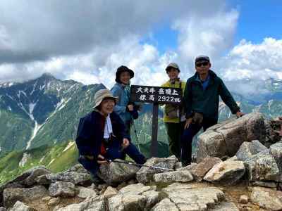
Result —
[[278, 181], [279, 169], [272, 155], [257, 153], [244, 161], [249, 181]]

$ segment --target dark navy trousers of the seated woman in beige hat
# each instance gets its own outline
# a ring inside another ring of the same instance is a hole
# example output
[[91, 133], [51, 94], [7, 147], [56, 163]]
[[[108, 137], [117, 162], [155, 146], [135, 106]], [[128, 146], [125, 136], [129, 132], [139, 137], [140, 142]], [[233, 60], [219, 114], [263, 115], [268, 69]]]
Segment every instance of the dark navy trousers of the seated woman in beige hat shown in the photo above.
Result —
[[[146, 158], [133, 143], [130, 143], [129, 146], [125, 149], [122, 149], [121, 143], [114, 139], [109, 143], [108, 146], [106, 146], [106, 154], [104, 155], [104, 158], [108, 160], [114, 160], [116, 158], [123, 159], [125, 158], [125, 155], [128, 155], [130, 158], [132, 158], [136, 163], [138, 164], [144, 164], [146, 162]], [[97, 176], [97, 171], [99, 170], [99, 164], [96, 160], [88, 160], [85, 158], [79, 158], [78, 162], [80, 162], [83, 167], [85, 167], [85, 170], [88, 170], [94, 177]]]

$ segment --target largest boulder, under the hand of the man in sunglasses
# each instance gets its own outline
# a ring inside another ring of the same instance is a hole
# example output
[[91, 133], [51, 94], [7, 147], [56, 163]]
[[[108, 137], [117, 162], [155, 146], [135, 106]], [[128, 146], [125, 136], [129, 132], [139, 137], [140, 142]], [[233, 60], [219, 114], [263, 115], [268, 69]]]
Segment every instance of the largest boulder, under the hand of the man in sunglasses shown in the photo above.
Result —
[[265, 141], [264, 117], [250, 113], [236, 120], [216, 124], [201, 134], [197, 146], [197, 162], [205, 157], [232, 157], [244, 141]]

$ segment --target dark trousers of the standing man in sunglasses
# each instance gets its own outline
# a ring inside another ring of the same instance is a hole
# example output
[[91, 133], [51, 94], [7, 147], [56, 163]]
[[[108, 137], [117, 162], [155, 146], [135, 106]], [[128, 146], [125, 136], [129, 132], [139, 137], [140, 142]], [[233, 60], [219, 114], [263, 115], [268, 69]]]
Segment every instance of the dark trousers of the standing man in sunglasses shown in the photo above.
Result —
[[185, 129], [181, 136], [181, 162], [183, 165], [190, 165], [192, 160], [192, 140], [193, 137], [203, 127], [204, 131], [209, 127], [217, 124], [217, 120], [204, 118], [202, 124], [190, 124], [188, 129]]

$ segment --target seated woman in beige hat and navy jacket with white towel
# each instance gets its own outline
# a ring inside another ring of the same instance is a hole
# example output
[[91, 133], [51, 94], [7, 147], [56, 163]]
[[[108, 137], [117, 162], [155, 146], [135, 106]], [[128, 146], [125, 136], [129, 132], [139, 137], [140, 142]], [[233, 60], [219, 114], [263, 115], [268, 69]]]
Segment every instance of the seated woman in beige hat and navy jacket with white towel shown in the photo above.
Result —
[[100, 89], [94, 96], [94, 110], [80, 119], [78, 135], [78, 161], [92, 174], [94, 183], [102, 183], [97, 176], [99, 165], [107, 160], [124, 159], [125, 154], [138, 164], [146, 162], [145, 156], [130, 142], [121, 117], [114, 112], [117, 97], [108, 89]]

